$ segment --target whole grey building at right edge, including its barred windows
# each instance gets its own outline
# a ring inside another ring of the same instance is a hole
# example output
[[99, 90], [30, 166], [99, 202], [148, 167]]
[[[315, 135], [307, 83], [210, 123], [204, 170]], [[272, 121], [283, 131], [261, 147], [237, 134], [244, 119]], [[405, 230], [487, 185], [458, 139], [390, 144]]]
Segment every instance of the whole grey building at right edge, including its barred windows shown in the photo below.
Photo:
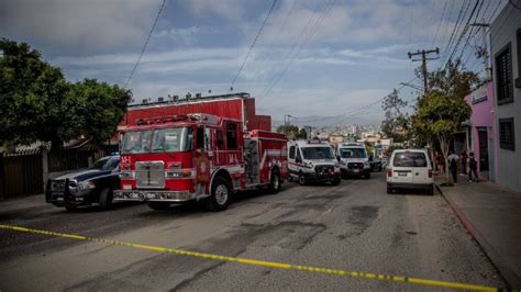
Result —
[[[519, 2], [519, 1], [518, 1]], [[494, 58], [496, 182], [521, 191], [521, 13], [507, 4], [490, 30]]]

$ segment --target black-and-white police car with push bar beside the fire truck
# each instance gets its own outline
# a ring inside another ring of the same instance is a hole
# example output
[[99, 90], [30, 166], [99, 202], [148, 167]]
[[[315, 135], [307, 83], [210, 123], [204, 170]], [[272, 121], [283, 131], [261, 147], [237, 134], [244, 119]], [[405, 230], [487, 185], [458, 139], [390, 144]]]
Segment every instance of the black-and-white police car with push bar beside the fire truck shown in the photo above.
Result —
[[68, 211], [80, 205], [99, 204], [107, 210], [112, 205], [112, 191], [120, 187], [120, 156], [107, 156], [90, 168], [47, 181], [45, 200]]

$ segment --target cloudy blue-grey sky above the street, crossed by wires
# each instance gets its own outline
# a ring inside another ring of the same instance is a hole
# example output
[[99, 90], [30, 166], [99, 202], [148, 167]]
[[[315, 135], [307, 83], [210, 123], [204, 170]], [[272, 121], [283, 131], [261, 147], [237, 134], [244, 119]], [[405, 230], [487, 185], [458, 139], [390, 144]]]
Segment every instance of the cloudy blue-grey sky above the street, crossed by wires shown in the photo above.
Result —
[[[0, 36], [41, 50], [70, 81], [96, 78], [124, 86], [162, 2], [0, 0]], [[257, 112], [275, 121], [290, 114], [313, 124], [339, 115], [322, 122], [379, 124], [379, 100], [413, 79], [420, 65], [407, 53], [440, 47], [440, 59], [428, 68], [442, 66], [458, 12], [470, 2], [277, 0], [268, 13], [270, 0], [166, 0], [128, 88], [135, 102], [187, 92], [248, 92]], [[484, 2], [485, 21], [507, 4]], [[473, 46], [480, 42], [480, 34], [472, 34], [462, 53], [478, 72], [483, 65]], [[400, 96], [412, 103], [415, 90], [406, 87]]]

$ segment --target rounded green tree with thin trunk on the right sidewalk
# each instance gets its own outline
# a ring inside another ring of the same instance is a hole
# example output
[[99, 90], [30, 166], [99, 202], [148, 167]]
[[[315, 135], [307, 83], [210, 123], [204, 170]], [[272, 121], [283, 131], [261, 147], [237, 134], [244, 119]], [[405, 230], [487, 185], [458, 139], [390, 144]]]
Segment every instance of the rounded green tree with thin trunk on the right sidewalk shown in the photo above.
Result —
[[[461, 127], [462, 122], [470, 117], [470, 106], [463, 99], [432, 90], [418, 108], [415, 122], [425, 133], [437, 138], [442, 155], [446, 158], [452, 134]], [[445, 167], [448, 182], [448, 164]]]

